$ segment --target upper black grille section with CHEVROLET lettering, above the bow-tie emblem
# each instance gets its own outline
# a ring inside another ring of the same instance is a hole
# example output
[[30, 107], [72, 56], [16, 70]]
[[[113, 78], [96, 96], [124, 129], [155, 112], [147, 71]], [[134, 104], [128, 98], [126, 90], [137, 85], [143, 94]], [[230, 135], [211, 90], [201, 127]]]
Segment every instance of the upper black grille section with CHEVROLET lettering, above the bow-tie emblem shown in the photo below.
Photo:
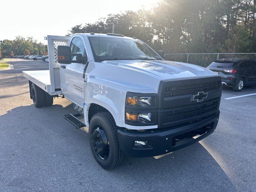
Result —
[[199, 91], [208, 92], [211, 90], [216, 90], [220, 88], [219, 82], [219, 80], [209, 81], [208, 79], [179, 81], [177, 82], [177, 85], [165, 87], [164, 98], [194, 94]]

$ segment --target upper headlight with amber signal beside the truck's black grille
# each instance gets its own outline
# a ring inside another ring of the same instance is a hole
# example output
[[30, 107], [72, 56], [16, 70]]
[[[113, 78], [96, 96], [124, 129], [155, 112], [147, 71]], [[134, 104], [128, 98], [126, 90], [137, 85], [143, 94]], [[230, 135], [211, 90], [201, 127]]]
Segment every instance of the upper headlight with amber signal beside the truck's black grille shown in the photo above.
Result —
[[134, 107], [154, 107], [156, 104], [155, 96], [126, 96], [126, 104]]

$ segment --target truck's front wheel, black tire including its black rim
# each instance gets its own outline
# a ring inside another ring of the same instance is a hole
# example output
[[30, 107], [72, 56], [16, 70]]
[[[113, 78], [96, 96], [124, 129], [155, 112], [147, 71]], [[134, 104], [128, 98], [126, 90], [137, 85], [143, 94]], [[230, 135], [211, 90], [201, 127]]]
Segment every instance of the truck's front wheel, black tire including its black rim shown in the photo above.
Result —
[[89, 141], [92, 154], [102, 168], [114, 169], [124, 162], [124, 154], [118, 144], [116, 124], [109, 112], [101, 112], [92, 116]]

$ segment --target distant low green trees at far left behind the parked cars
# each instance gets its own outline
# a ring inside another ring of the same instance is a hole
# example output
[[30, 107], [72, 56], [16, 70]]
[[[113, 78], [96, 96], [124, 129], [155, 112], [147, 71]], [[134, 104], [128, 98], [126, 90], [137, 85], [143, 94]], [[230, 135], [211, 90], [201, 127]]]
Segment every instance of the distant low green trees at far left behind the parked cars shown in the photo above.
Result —
[[44, 55], [47, 54], [47, 45], [37, 42], [32, 37], [16, 36], [14, 40], [0, 40], [0, 57], [14, 55]]

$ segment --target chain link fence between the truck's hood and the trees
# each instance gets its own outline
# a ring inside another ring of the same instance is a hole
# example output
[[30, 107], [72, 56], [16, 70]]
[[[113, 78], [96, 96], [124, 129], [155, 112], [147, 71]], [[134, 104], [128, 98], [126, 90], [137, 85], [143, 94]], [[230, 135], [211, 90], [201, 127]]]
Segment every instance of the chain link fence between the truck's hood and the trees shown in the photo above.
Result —
[[164, 54], [164, 59], [168, 61], [178, 61], [191, 63], [203, 67], [208, 67], [213, 60], [217, 59], [252, 59], [256, 60], [256, 53], [184, 53], [184, 54]]

